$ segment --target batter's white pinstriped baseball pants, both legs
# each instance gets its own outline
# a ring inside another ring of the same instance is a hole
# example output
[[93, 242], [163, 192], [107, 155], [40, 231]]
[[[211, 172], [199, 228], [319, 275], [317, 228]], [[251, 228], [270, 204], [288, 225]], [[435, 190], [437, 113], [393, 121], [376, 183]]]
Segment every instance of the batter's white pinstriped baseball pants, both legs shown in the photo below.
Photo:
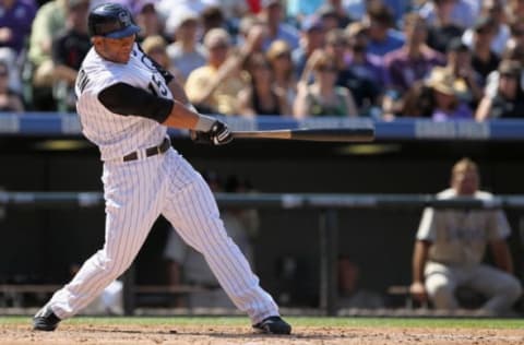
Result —
[[175, 150], [145, 159], [105, 163], [102, 179], [105, 243], [48, 302], [57, 317], [74, 316], [119, 277], [160, 214], [204, 255], [226, 294], [253, 323], [278, 314], [273, 298], [227, 236], [207, 183]]

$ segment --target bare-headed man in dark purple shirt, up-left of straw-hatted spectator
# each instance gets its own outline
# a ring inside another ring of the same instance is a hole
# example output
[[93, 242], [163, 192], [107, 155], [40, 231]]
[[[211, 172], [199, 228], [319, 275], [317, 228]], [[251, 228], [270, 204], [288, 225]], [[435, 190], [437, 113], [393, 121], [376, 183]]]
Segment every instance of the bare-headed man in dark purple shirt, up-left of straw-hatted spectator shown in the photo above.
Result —
[[400, 100], [416, 81], [426, 78], [436, 66], [443, 66], [445, 57], [426, 45], [427, 27], [419, 14], [412, 12], [404, 17], [406, 44], [384, 57], [389, 74], [389, 86], [382, 107], [384, 114], [396, 114]]

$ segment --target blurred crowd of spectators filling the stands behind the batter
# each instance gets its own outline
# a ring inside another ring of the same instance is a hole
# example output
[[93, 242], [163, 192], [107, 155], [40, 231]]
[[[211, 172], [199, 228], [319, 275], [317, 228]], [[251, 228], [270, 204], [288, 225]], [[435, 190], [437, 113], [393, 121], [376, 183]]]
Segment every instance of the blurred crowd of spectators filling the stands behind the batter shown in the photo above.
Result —
[[[115, 0], [205, 114], [524, 115], [524, 1]], [[0, 110], [74, 111], [99, 0], [0, 1]]]

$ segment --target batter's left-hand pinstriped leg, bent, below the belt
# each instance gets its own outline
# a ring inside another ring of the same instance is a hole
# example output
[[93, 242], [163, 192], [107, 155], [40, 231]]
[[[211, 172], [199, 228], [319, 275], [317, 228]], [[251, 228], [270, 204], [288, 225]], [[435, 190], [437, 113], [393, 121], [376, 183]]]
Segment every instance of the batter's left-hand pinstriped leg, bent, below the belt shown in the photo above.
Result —
[[159, 215], [162, 179], [155, 164], [106, 165], [103, 180], [105, 243], [46, 305], [59, 319], [78, 313], [130, 266]]

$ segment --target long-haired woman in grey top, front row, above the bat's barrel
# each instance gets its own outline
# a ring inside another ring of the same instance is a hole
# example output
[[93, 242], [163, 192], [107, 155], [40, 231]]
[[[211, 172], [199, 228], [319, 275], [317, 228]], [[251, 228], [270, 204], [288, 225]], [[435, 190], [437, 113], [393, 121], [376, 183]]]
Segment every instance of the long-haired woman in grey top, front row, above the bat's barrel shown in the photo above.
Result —
[[[348, 90], [336, 85], [338, 69], [335, 60], [323, 50], [314, 51], [298, 82], [294, 104], [297, 119], [319, 116], [356, 117], [358, 110]], [[313, 83], [309, 84], [311, 75]]]

